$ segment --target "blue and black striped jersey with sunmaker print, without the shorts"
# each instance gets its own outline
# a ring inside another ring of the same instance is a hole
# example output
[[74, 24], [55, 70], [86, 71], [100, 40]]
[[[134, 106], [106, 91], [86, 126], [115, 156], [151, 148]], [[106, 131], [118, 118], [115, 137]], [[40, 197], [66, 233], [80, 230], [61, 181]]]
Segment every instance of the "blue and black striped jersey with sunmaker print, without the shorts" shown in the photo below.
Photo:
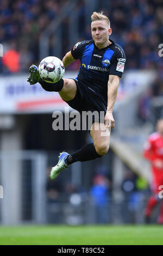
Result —
[[[109, 39], [110, 40], [110, 39]], [[126, 56], [121, 46], [112, 44], [99, 49], [93, 40], [78, 42], [71, 50], [81, 65], [77, 81], [99, 96], [108, 98], [109, 75], [122, 77]]]

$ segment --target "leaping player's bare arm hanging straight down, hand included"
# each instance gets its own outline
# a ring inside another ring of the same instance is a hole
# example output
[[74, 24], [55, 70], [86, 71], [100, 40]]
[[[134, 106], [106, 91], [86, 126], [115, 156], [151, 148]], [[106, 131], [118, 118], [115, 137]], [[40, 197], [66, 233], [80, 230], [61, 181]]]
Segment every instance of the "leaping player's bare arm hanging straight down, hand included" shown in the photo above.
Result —
[[115, 121], [112, 116], [112, 109], [116, 101], [120, 79], [121, 78], [119, 76], [110, 75], [108, 81], [108, 106], [105, 115], [105, 126], [111, 128], [115, 126]]

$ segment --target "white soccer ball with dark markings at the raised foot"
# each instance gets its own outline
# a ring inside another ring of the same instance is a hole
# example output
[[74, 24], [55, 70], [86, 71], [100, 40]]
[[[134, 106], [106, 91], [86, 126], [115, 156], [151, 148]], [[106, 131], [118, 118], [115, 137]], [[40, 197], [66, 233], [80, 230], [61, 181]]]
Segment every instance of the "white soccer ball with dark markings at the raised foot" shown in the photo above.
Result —
[[57, 83], [65, 74], [65, 67], [62, 61], [53, 56], [41, 60], [39, 75], [47, 83]]

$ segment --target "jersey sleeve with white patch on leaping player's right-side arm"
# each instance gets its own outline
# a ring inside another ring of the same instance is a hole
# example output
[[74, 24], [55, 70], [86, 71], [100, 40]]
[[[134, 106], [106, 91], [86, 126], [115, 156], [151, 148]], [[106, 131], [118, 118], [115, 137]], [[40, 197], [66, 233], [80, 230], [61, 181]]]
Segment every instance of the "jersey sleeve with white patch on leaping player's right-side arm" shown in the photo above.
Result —
[[113, 54], [110, 62], [109, 75], [122, 77], [126, 56], [122, 48], [116, 46], [116, 51]]

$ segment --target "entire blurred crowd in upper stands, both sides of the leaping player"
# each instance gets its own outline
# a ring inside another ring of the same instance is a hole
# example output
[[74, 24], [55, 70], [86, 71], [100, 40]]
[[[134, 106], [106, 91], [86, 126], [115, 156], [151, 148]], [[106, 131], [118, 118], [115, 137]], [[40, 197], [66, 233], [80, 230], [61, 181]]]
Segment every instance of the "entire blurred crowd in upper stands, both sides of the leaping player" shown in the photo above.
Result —
[[[66, 0], [1, 0], [0, 42], [4, 45], [1, 69], [5, 66], [10, 72], [27, 71], [32, 62], [38, 62], [40, 34], [49, 22], [55, 19], [66, 2]], [[126, 52], [126, 68], [161, 71], [163, 64], [158, 54], [158, 46], [163, 38], [162, 0], [97, 2], [97, 11], [104, 10], [104, 14], [111, 21], [113, 32], [110, 38], [120, 44]], [[77, 11], [80, 40], [91, 39], [90, 25], [86, 22], [87, 2], [80, 1]], [[65, 22], [68, 20], [66, 19]], [[65, 38], [64, 41], [67, 42]], [[72, 45], [67, 45], [67, 49], [71, 48]], [[12, 50], [9, 53], [14, 56], [16, 68], [8, 65], [8, 58], [5, 55], [7, 50]]]

